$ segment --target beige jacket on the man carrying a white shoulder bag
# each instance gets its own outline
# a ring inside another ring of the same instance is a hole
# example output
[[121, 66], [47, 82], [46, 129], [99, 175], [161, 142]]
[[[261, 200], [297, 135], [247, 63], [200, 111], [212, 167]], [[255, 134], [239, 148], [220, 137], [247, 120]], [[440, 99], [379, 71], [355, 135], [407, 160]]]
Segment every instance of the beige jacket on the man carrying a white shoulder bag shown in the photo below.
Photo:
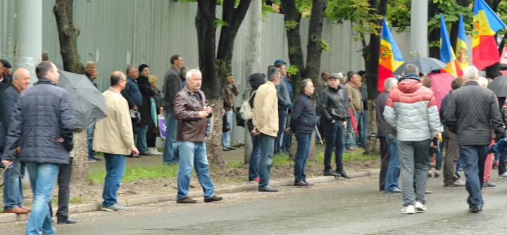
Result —
[[253, 125], [261, 133], [276, 137], [278, 134], [278, 97], [273, 82], [266, 82], [257, 89], [252, 108]]

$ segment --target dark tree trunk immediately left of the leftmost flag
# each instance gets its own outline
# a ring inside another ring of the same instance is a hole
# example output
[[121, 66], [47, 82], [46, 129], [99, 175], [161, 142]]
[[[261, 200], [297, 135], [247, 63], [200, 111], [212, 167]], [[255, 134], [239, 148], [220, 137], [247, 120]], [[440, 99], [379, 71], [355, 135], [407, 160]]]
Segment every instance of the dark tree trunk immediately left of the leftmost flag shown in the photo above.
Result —
[[[387, 0], [370, 0], [371, 8], [370, 13], [376, 13], [378, 15], [385, 15], [387, 11]], [[382, 26], [382, 20], [375, 20], [375, 25]], [[379, 34], [370, 34], [370, 44], [367, 48], [363, 49], [363, 58], [365, 60], [365, 68], [368, 68], [366, 70], [366, 81], [368, 82], [368, 107], [370, 106], [370, 103], [374, 103], [373, 106], [375, 106], [375, 101], [377, 100], [377, 96], [380, 94], [380, 91], [377, 89], [378, 84], [378, 61], [380, 57], [380, 30]], [[369, 123], [368, 129], [371, 125], [377, 125], [375, 122], [375, 112], [369, 111], [368, 112], [369, 117]], [[372, 121], [373, 120], [373, 121]], [[376, 127], [373, 127], [372, 129], [377, 129]], [[368, 130], [368, 133], [370, 133], [370, 130]], [[374, 150], [376, 146], [376, 139], [375, 141], [370, 141], [370, 139], [367, 137], [365, 140], [365, 153], [364, 154], [373, 154], [373, 152], [370, 152], [369, 150]]]

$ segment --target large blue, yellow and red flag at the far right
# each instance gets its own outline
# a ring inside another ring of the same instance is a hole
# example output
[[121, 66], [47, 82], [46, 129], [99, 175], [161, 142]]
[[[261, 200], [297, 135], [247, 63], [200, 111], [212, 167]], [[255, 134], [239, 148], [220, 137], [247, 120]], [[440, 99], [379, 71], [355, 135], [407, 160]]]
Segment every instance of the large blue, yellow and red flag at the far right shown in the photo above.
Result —
[[475, 0], [472, 63], [478, 70], [500, 61], [494, 34], [506, 27], [484, 0]]

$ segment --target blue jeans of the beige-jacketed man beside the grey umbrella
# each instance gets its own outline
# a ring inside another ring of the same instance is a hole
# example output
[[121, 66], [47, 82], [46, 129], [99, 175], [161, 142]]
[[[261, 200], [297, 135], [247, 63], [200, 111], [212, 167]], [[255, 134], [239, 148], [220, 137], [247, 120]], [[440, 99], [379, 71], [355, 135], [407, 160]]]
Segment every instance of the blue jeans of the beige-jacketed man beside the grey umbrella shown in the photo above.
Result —
[[125, 174], [125, 158], [126, 155], [104, 153], [106, 159], [106, 179], [104, 180], [104, 191], [102, 192], [103, 208], [108, 208], [111, 205], [118, 203], [118, 189]]

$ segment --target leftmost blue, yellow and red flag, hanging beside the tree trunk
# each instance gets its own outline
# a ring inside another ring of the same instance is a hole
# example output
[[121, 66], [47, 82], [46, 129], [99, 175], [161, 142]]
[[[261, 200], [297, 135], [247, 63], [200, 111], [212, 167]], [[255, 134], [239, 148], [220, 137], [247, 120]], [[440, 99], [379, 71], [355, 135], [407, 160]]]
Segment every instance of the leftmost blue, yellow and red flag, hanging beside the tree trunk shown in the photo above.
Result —
[[382, 39], [380, 39], [379, 76], [377, 89], [384, 92], [384, 82], [388, 77], [394, 77], [392, 73], [399, 65], [403, 64], [403, 56], [398, 49], [391, 30], [384, 17], [382, 26]]

